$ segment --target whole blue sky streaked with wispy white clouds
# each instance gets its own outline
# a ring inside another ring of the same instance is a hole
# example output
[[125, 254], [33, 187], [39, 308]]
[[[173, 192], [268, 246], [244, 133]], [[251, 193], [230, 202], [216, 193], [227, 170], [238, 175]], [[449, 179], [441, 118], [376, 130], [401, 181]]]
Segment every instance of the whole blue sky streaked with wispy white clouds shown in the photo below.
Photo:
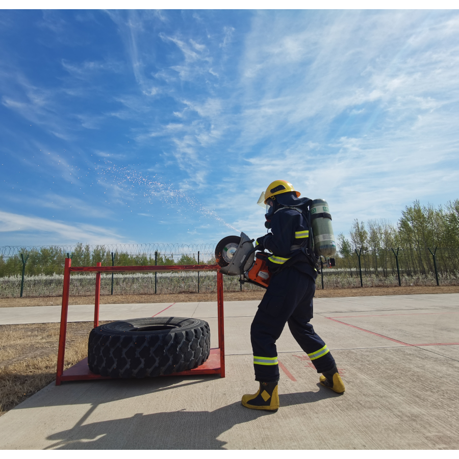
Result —
[[457, 11], [1, 11], [0, 245], [335, 234], [459, 197]]

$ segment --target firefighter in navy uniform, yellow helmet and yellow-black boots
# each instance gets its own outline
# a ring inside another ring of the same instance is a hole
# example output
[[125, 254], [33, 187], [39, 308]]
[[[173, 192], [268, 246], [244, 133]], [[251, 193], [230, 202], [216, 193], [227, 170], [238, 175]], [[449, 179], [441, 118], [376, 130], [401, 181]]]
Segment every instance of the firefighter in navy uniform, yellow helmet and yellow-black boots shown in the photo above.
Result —
[[311, 256], [312, 244], [308, 239], [311, 201], [299, 196], [292, 184], [276, 180], [259, 200], [267, 207], [265, 226], [271, 228], [271, 233], [258, 238], [257, 245], [272, 253], [268, 265], [273, 275], [250, 328], [255, 380], [260, 387], [256, 394], [244, 395], [242, 404], [255, 410], [276, 411], [279, 407], [275, 342], [286, 323], [317, 372], [322, 373], [320, 384], [344, 392], [335, 359], [310, 323], [317, 259]]

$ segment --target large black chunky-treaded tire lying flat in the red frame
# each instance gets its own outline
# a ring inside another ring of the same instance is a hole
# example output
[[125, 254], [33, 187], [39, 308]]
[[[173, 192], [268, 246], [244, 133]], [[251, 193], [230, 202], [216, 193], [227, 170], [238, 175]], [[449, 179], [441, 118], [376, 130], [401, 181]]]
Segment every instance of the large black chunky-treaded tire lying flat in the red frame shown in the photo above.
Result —
[[100, 325], [88, 342], [89, 369], [113, 378], [191, 370], [210, 353], [209, 324], [185, 317], [132, 319]]

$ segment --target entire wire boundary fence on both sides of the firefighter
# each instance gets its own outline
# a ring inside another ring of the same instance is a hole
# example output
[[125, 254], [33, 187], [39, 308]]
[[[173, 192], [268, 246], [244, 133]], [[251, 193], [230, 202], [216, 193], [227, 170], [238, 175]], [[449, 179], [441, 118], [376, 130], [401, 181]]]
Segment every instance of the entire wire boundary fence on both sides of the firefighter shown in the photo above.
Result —
[[[64, 260], [72, 266], [151, 266], [214, 264], [211, 244], [114, 244], [0, 247], [0, 297], [60, 296]], [[359, 264], [360, 258], [360, 264]], [[352, 288], [397, 285], [459, 285], [459, 249], [394, 248], [361, 250], [336, 257], [323, 269], [317, 287]], [[398, 262], [398, 269], [397, 269]], [[400, 279], [400, 281], [399, 281]], [[237, 276], [223, 276], [225, 291], [239, 291]], [[101, 275], [101, 294], [216, 292], [215, 272], [116, 273]], [[93, 295], [95, 274], [71, 275], [71, 295]], [[244, 284], [243, 290], [263, 290]]]

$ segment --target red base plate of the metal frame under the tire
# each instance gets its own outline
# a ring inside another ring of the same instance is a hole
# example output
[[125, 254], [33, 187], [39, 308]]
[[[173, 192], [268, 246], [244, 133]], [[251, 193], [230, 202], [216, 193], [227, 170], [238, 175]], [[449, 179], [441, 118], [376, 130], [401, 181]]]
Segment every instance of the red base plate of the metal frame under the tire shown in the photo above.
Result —
[[[209, 358], [202, 365], [192, 370], [181, 371], [180, 373], [171, 373], [164, 376], [188, 376], [195, 374], [220, 374], [220, 349], [211, 349]], [[81, 381], [87, 379], [118, 379], [110, 376], [101, 376], [93, 373], [88, 367], [88, 358], [86, 357], [78, 364], [73, 365], [62, 373], [61, 381]]]

